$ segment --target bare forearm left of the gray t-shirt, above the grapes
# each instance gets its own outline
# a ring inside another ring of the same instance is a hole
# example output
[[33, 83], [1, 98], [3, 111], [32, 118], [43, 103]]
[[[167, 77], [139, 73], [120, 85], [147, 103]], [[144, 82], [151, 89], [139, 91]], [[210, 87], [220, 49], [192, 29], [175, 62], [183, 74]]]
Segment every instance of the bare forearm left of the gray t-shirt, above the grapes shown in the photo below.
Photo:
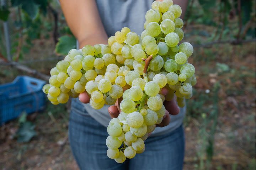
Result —
[[107, 44], [108, 36], [95, 0], [60, 0], [60, 5], [80, 48], [85, 45]]

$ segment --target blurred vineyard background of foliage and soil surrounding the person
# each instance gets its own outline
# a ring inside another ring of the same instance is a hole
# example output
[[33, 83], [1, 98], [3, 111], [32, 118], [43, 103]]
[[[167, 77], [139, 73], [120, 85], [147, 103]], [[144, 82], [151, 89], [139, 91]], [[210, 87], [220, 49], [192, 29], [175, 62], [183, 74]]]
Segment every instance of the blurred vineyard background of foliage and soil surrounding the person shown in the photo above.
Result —
[[[58, 1], [0, 5], [0, 83], [45, 79], [76, 47]], [[198, 83], [187, 101], [184, 169], [255, 169], [255, 1], [189, 0], [183, 41]], [[11, 60], [4, 23], [9, 26]], [[141, 23], [143, 24], [143, 23]], [[19, 67], [17, 67], [19, 66]], [[42, 77], [42, 74], [45, 75]], [[68, 145], [69, 104], [47, 104], [0, 127], [1, 169], [78, 169]]]

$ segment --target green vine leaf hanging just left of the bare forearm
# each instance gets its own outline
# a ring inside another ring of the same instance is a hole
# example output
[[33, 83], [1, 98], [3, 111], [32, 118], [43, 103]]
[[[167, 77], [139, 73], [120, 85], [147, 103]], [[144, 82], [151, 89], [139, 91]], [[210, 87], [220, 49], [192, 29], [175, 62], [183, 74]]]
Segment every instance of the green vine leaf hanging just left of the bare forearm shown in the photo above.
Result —
[[55, 52], [60, 55], [67, 55], [69, 50], [76, 48], [76, 39], [74, 36], [64, 35], [59, 38], [56, 44]]

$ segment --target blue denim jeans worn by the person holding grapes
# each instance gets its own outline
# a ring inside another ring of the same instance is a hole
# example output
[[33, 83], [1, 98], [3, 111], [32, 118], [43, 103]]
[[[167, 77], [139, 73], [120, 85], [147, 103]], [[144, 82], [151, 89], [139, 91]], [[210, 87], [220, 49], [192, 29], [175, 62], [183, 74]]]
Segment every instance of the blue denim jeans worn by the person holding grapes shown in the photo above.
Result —
[[69, 140], [81, 170], [181, 170], [185, 139], [182, 125], [169, 134], [149, 137], [146, 149], [122, 164], [107, 157], [107, 128], [88, 113], [71, 108]]

